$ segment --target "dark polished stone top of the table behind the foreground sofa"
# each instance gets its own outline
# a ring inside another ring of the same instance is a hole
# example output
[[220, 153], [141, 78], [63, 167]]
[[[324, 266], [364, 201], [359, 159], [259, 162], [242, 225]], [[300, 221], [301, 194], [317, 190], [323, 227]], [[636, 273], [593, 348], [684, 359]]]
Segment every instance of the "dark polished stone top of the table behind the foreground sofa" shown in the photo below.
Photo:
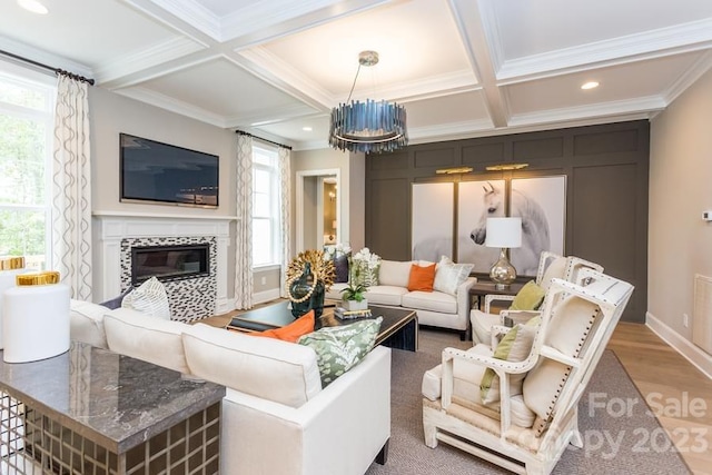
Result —
[[117, 454], [225, 395], [224, 386], [83, 343], [39, 362], [0, 358], [0, 389]]

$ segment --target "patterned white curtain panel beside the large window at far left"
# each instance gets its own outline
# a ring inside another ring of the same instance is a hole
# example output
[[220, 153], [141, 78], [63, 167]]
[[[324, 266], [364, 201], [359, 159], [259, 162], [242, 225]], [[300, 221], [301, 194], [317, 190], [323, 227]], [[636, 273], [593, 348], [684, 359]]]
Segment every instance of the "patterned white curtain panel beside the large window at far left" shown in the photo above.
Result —
[[86, 82], [58, 76], [52, 160], [52, 270], [91, 301], [91, 160]]

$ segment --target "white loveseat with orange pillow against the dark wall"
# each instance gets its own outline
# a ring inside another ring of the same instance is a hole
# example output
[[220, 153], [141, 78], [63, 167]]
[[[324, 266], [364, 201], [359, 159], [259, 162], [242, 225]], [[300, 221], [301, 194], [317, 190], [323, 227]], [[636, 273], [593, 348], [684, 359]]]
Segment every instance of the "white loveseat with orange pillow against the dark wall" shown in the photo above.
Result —
[[[433, 263], [383, 259], [378, 269], [378, 285], [368, 287], [365, 294], [368, 305], [403, 307], [415, 310], [419, 325], [455, 329], [461, 331], [461, 338], [465, 339], [469, 323], [469, 288], [477, 279], [467, 277], [452, 294], [438, 290], [409, 291], [408, 278], [413, 264], [427, 266]], [[334, 284], [326, 293], [326, 298], [340, 300], [340, 291], [347, 285]]]

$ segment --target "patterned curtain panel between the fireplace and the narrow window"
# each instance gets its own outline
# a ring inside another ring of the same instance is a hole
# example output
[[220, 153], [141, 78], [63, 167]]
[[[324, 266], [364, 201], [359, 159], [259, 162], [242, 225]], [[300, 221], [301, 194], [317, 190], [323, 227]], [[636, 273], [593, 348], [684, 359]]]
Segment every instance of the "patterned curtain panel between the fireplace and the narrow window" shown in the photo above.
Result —
[[235, 308], [253, 306], [253, 138], [237, 136]]

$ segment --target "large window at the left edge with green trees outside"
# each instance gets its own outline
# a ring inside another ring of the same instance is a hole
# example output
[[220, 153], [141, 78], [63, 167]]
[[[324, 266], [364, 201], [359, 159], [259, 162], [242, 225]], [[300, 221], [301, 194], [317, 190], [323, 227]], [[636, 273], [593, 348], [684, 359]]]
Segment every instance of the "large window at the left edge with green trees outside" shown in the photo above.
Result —
[[0, 62], [0, 256], [41, 270], [50, 255], [56, 83]]

